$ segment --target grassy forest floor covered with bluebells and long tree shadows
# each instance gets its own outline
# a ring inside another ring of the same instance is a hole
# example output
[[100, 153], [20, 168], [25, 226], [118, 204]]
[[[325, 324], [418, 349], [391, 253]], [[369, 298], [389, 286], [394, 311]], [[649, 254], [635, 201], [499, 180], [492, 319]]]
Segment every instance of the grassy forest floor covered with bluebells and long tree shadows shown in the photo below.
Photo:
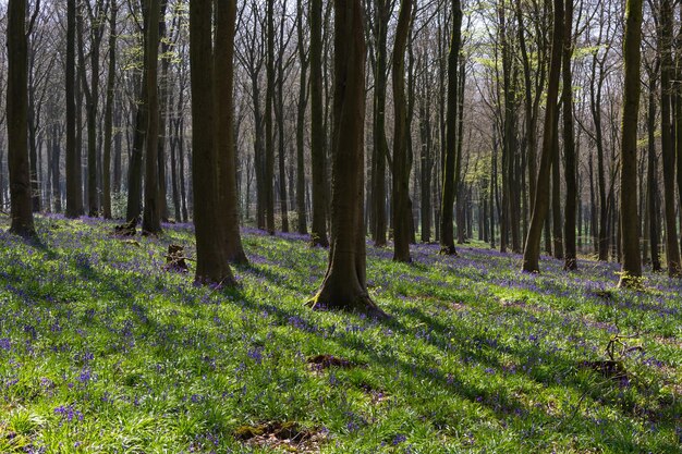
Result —
[[327, 262], [304, 236], [244, 230], [224, 290], [165, 270], [188, 225], [36, 222], [27, 244], [0, 218], [0, 453], [682, 452], [665, 274], [632, 292], [613, 263], [368, 247], [377, 321], [303, 305]]

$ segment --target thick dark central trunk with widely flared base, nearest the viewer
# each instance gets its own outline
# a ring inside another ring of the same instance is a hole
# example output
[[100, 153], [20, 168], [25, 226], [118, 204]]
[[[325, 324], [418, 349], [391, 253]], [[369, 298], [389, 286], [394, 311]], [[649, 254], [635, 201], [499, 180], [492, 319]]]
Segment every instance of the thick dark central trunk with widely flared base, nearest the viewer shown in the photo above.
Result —
[[383, 317], [366, 286], [363, 225], [365, 38], [361, 0], [334, 1], [331, 250], [322, 285], [309, 302]]

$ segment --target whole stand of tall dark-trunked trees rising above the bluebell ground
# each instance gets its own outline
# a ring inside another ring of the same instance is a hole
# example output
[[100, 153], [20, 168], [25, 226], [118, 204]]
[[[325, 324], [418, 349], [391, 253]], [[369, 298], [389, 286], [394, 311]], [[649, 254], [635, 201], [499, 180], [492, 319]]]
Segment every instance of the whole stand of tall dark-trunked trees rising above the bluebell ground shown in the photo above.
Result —
[[418, 237], [682, 277], [672, 0], [10, 0], [2, 21], [16, 233], [192, 220], [197, 279], [232, 282], [240, 224], [295, 230], [331, 245], [315, 304], [345, 286], [373, 310], [366, 235], [405, 262]]

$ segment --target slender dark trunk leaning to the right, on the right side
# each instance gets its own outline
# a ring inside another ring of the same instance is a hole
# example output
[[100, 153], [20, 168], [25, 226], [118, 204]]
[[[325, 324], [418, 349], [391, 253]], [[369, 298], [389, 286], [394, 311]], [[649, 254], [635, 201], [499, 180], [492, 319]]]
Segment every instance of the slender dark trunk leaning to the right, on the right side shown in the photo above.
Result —
[[528, 237], [523, 253], [523, 271], [539, 272], [540, 237], [543, 225], [549, 208], [549, 173], [552, 165], [552, 145], [557, 134], [557, 100], [559, 98], [559, 79], [561, 77], [561, 49], [563, 45], [563, 0], [553, 1], [553, 32], [551, 41], [551, 61], [549, 65], [549, 87], [547, 89], [547, 108], [545, 110], [545, 135], [538, 169], [533, 216], [528, 228]]

